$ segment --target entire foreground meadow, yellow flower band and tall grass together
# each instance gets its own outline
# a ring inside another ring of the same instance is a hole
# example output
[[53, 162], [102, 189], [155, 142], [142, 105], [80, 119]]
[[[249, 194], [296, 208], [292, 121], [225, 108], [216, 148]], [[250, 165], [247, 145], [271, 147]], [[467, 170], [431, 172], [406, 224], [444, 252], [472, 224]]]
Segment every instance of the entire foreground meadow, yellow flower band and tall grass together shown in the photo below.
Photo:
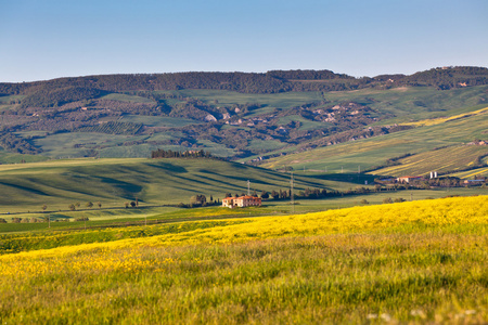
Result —
[[473, 196], [2, 235], [0, 320], [481, 324], [487, 216]]

